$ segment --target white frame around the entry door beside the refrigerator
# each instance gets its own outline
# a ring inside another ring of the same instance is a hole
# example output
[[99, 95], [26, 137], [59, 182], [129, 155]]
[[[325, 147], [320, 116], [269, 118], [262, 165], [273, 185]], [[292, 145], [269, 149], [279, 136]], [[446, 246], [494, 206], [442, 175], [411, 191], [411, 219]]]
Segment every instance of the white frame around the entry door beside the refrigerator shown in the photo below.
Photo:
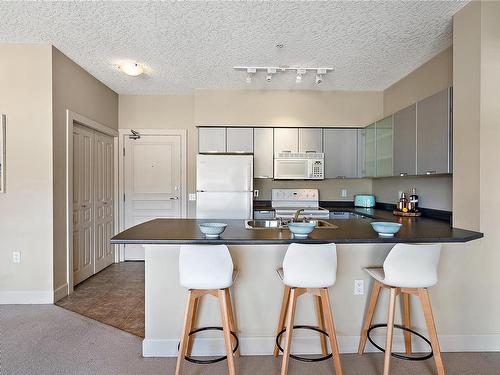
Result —
[[[170, 130], [170, 129], [134, 129], [141, 135], [178, 135], [181, 137], [181, 217], [187, 217], [187, 130]], [[118, 129], [118, 148], [120, 150], [118, 160], [118, 209], [120, 217], [118, 220], [118, 230], [125, 230], [125, 205], [123, 196], [125, 194], [124, 175], [125, 175], [125, 142], [124, 137], [132, 134], [132, 129]], [[115, 257], [116, 258], [116, 257]], [[117, 260], [118, 261], [118, 260]], [[125, 261], [125, 246], [119, 245], [119, 261]]]

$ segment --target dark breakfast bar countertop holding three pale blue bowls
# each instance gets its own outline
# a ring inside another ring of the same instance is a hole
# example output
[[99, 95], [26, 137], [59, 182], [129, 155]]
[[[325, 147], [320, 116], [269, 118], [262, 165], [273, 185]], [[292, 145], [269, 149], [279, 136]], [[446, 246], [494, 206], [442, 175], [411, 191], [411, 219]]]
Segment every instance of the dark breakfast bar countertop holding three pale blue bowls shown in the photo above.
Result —
[[[338, 208], [345, 211], [346, 208]], [[287, 229], [245, 229], [245, 220], [197, 220], [197, 219], [155, 219], [136, 225], [117, 234], [113, 244], [289, 244], [325, 243], [436, 243], [468, 242], [482, 238], [479, 232], [452, 228], [443, 220], [426, 217], [403, 218], [379, 209], [350, 208], [349, 211], [367, 215], [364, 219], [327, 220], [337, 229], [315, 229], [307, 239], [294, 239]], [[370, 222], [384, 220], [402, 223], [401, 230], [392, 238], [382, 238], [372, 229]], [[207, 239], [200, 232], [198, 224], [219, 221], [228, 224], [218, 239]]]

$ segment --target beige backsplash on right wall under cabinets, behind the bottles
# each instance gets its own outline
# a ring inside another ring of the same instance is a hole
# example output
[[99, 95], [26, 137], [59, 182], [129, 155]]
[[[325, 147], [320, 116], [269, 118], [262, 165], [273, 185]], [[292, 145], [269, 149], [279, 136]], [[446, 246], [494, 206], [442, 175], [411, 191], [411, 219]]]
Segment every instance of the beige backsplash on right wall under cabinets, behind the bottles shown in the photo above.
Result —
[[417, 189], [420, 207], [452, 211], [451, 175], [375, 178], [372, 181], [373, 194], [377, 202], [382, 203], [396, 203], [398, 192], [404, 191], [408, 195], [412, 187]]

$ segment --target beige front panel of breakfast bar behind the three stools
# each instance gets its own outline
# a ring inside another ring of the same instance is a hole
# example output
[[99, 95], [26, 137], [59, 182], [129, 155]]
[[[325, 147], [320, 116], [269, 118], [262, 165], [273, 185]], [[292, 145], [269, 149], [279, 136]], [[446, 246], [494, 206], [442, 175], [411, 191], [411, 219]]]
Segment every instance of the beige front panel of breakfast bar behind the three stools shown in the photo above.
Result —
[[[363, 321], [370, 278], [362, 268], [382, 264], [391, 244], [338, 245], [337, 282], [330, 289], [337, 334], [342, 352], [356, 352]], [[175, 357], [183, 324], [187, 290], [179, 285], [179, 245], [145, 245], [145, 357]], [[287, 245], [229, 246], [239, 275], [231, 292], [239, 325], [243, 355], [270, 355], [282, 300], [283, 284], [276, 275]], [[353, 280], [365, 280], [365, 294], [353, 295]], [[375, 321], [386, 320], [387, 298], [380, 300]], [[415, 303], [413, 326], [425, 327]], [[397, 315], [399, 319], [399, 311]], [[300, 297], [296, 324], [316, 325], [310, 296]], [[221, 326], [215, 298], [203, 297], [199, 326]], [[398, 346], [398, 338], [395, 339]], [[403, 342], [402, 339], [400, 340]], [[316, 335], [297, 331], [294, 352], [320, 353]], [[205, 332], [195, 340], [194, 355], [221, 355], [224, 346], [220, 332]]]

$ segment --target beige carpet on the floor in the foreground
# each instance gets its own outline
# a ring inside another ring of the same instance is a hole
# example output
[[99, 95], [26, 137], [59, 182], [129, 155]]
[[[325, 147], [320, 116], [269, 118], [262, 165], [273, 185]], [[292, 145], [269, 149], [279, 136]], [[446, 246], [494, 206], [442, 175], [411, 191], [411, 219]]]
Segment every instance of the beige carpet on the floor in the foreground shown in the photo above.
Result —
[[[0, 306], [0, 374], [174, 374], [174, 358], [142, 358], [141, 339], [52, 305]], [[346, 375], [380, 374], [382, 355], [342, 355]], [[447, 374], [500, 374], [500, 353], [446, 353]], [[434, 363], [392, 361], [394, 375], [434, 374]], [[241, 357], [238, 374], [279, 374], [280, 360]], [[225, 375], [225, 362], [187, 363], [185, 374]], [[290, 375], [333, 374], [331, 363], [292, 361]]]

